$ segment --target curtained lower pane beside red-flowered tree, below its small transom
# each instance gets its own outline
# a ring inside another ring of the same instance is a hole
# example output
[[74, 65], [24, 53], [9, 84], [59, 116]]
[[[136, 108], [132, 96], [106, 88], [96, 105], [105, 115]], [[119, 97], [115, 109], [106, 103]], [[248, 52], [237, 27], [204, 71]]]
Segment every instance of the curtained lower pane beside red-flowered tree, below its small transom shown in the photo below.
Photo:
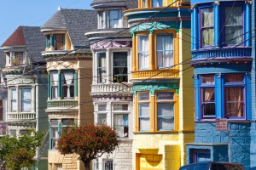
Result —
[[128, 114], [113, 115], [113, 129], [119, 138], [128, 138]]

